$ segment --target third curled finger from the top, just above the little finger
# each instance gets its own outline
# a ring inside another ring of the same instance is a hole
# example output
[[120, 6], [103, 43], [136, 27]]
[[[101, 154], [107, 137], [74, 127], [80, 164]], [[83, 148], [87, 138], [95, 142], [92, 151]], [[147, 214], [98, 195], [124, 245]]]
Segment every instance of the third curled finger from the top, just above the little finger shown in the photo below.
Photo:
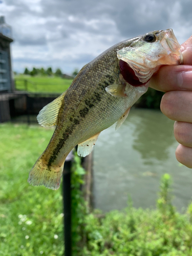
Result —
[[174, 135], [180, 144], [192, 147], [192, 123], [176, 121], [174, 124]]

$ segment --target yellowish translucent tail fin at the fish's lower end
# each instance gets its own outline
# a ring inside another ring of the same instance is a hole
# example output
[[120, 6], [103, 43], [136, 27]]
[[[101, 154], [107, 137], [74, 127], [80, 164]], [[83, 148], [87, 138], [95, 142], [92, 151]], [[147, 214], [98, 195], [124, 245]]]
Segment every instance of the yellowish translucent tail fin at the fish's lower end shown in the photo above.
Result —
[[56, 190], [60, 186], [63, 165], [64, 163], [60, 167], [48, 166], [40, 156], [29, 173], [28, 182], [33, 186], [44, 185]]

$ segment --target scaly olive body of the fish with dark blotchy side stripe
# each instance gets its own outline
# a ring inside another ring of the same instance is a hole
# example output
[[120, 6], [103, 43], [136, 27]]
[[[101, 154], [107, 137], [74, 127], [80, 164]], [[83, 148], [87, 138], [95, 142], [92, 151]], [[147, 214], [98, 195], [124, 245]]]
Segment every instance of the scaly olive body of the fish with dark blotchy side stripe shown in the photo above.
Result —
[[[127, 45], [129, 44], [130, 42]], [[54, 162], [59, 152], [65, 158], [65, 154], [77, 144], [76, 138], [80, 137], [78, 142], [87, 140], [94, 134], [111, 126], [119, 117], [119, 113], [117, 113], [118, 117], [115, 115], [116, 112], [119, 112], [118, 109], [122, 109], [121, 114], [125, 112], [127, 108], [126, 99], [111, 97], [105, 91], [105, 88], [110, 84], [119, 82], [118, 61], [114, 61], [114, 56], [116, 56], [116, 51], [111, 50], [108, 54], [94, 60], [84, 70], [86, 75], [77, 78], [72, 83], [68, 94], [64, 98], [64, 109], [59, 113], [60, 125], [58, 124], [56, 127], [55, 134], [51, 139], [55, 150], [53, 155], [49, 156], [48, 154], [46, 157], [49, 165]], [[114, 101], [116, 101], [116, 106], [119, 105], [119, 108], [114, 108]], [[98, 102], [100, 104], [97, 104]], [[73, 114], [71, 115], [71, 113]], [[115, 120], [111, 118], [111, 113], [113, 113]], [[67, 122], [68, 115], [71, 117], [69, 120], [71, 122], [70, 126], [68, 126]], [[94, 123], [93, 116], [97, 117], [94, 119]], [[65, 123], [66, 125], [63, 125]], [[77, 129], [75, 129], [75, 126]], [[68, 144], [66, 139], [72, 137], [72, 134], [75, 135], [74, 144], [72, 144], [72, 141]], [[60, 138], [59, 141], [58, 138]], [[63, 145], [65, 145], [64, 152], [60, 151]]]

